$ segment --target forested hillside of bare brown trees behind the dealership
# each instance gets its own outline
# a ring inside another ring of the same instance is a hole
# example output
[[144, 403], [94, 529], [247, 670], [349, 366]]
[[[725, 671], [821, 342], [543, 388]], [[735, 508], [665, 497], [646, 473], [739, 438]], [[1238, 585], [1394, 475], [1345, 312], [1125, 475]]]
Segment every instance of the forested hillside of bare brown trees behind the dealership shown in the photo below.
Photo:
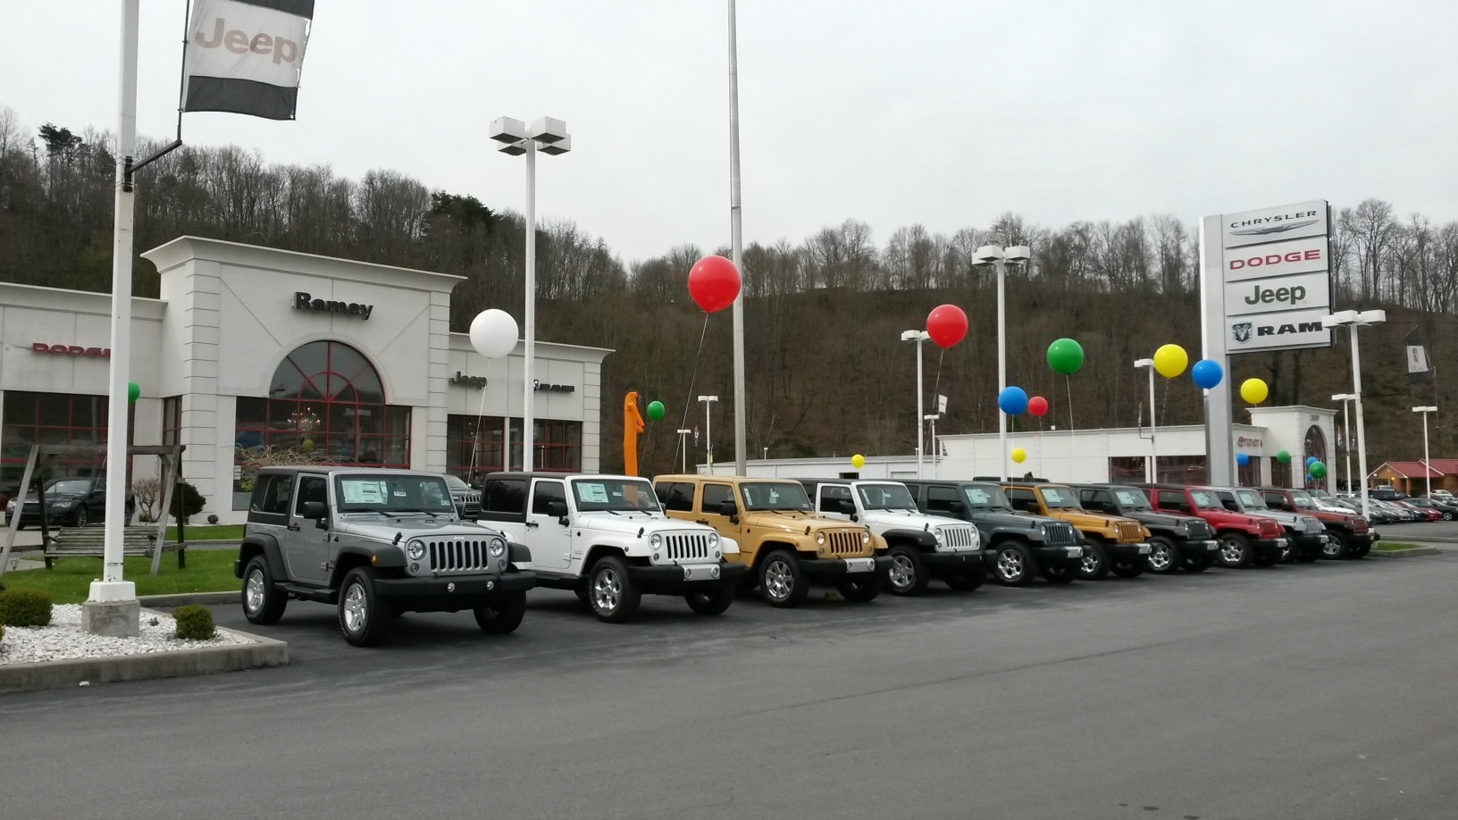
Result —
[[[0, 107], [0, 280], [109, 290], [108, 143], [104, 133], [23, 124]], [[452, 330], [464, 331], [486, 308], [522, 314], [523, 220], [491, 207], [496, 196], [429, 191], [388, 169], [347, 179], [327, 165], [273, 165], [236, 146], [187, 146], [140, 175], [136, 248], [190, 233], [461, 274]], [[1446, 410], [1458, 387], [1446, 366], [1458, 349], [1458, 222], [1433, 225], [1375, 198], [1334, 206], [1338, 306], [1388, 311], [1385, 325], [1362, 336], [1372, 465], [1422, 457], [1414, 404], [1438, 404], [1433, 457], [1452, 455], [1458, 436]], [[1042, 423], [1133, 426], [1147, 390], [1133, 360], [1165, 343], [1198, 356], [1198, 216], [1044, 228], [1005, 214], [951, 236], [911, 225], [881, 241], [846, 219], [800, 241], [748, 245], [749, 452], [911, 452], [916, 350], [900, 336], [923, 328], [943, 302], [967, 311], [971, 331], [949, 350], [924, 347], [927, 404], [936, 392], [949, 400], [937, 432], [996, 430], [996, 282], [970, 263], [983, 244], [1032, 248], [1026, 270], [1009, 273], [1007, 357], [1009, 382], [1053, 404]], [[726, 207], [726, 238], [728, 223]], [[685, 285], [698, 257], [728, 250], [665, 236], [662, 255], [624, 263], [572, 222], [541, 226], [537, 244], [538, 339], [615, 350], [604, 362], [604, 467], [621, 467], [612, 433], [628, 390], [668, 406], [640, 441], [643, 471], [669, 468], [685, 407], [687, 426], [700, 422], [698, 394], [720, 395], [714, 455], [732, 460], [730, 315], [706, 317]], [[134, 292], [157, 295], [156, 270], [140, 257]], [[1438, 365], [1436, 385], [1408, 385], [1403, 337], [1414, 327]], [[1061, 336], [1086, 352], [1069, 379], [1044, 362]], [[1235, 379], [1267, 379], [1273, 404], [1330, 407], [1331, 394], [1350, 390], [1344, 333], [1331, 349], [1232, 357], [1232, 371]], [[1245, 419], [1238, 409], [1236, 420]], [[1188, 378], [1159, 385], [1161, 425], [1201, 420]]]

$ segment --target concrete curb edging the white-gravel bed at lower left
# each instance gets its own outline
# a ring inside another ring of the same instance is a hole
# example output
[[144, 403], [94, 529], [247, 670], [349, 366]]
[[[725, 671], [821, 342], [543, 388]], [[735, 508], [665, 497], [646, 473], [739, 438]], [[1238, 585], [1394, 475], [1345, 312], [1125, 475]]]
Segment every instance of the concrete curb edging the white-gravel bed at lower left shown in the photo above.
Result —
[[[230, 595], [238, 595], [230, 592]], [[147, 610], [143, 610], [147, 611]], [[187, 677], [230, 673], [289, 664], [289, 645], [283, 641], [217, 627], [241, 635], [252, 643], [241, 646], [203, 646], [176, 652], [118, 655], [112, 658], [71, 658], [39, 664], [0, 667], [0, 693], [36, 692], [80, 684], [121, 683], [162, 677]]]

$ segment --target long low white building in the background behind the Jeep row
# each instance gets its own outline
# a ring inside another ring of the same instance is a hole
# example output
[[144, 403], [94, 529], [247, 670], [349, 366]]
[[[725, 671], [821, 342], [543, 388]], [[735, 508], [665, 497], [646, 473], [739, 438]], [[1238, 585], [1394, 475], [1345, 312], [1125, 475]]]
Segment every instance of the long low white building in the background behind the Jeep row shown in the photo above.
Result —
[[[1337, 465], [1336, 411], [1321, 407], [1254, 407], [1250, 410], [1250, 425], [1235, 425], [1236, 452], [1247, 457], [1236, 474], [1244, 486], [1317, 486], [1334, 490]], [[1159, 481], [1204, 483], [1209, 476], [1206, 436], [1203, 425], [1158, 428]], [[1149, 430], [1139, 428], [1115, 428], [1098, 430], [1045, 430], [1018, 432], [1007, 435], [1009, 454], [1022, 448], [1026, 458], [1022, 464], [1007, 460], [1010, 476], [1031, 473], [1054, 481], [1143, 481], [1150, 455]], [[1000, 442], [997, 433], [939, 435], [921, 461], [921, 476], [943, 479], [971, 479], [997, 476], [1002, 471]], [[1287, 461], [1279, 454], [1286, 451]], [[1325, 479], [1309, 481], [1301, 467], [1314, 457], [1328, 467]], [[851, 454], [834, 458], [770, 458], [748, 463], [751, 476], [771, 477], [837, 477], [859, 474], [866, 479], [914, 479], [917, 477], [916, 455], [865, 455], [866, 464], [856, 468]], [[1238, 464], [1238, 461], [1236, 461]], [[717, 465], [720, 471], [732, 465]], [[703, 468], [700, 468], [703, 470]]]

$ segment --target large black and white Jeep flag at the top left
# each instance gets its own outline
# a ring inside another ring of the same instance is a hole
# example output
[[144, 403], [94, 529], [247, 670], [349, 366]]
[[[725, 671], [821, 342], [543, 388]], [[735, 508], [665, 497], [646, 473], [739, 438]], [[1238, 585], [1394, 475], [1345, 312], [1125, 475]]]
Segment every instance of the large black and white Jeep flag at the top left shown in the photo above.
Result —
[[313, 0], [192, 0], [184, 111], [293, 120]]

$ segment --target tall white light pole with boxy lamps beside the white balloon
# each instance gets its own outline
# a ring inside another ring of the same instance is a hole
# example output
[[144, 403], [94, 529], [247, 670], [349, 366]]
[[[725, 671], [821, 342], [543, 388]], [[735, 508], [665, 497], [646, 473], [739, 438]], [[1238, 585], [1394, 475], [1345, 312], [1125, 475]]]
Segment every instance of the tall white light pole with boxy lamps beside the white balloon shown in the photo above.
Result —
[[537, 355], [537, 152], [557, 156], [572, 150], [572, 136], [567, 124], [551, 117], [539, 117], [526, 125], [521, 120], [500, 117], [491, 123], [490, 134], [502, 143], [496, 150], [521, 156], [526, 155], [526, 311], [522, 333], [526, 350], [522, 353], [522, 381], [525, 401], [522, 404], [522, 470], [531, 473], [537, 446], [537, 420], [534, 398], [537, 382], [532, 378], [532, 362]]

